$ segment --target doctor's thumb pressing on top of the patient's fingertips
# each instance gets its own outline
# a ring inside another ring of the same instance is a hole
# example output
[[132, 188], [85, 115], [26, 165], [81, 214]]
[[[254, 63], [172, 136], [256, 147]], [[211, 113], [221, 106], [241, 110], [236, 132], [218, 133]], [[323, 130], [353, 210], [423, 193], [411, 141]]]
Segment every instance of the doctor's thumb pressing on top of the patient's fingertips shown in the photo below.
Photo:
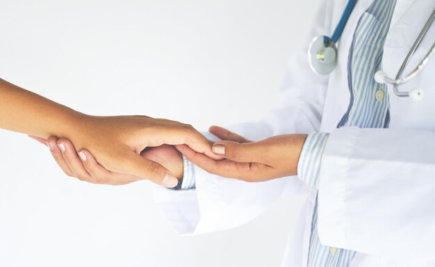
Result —
[[261, 143], [240, 144], [234, 141], [218, 141], [213, 144], [213, 153], [233, 162], [262, 162], [264, 149]]

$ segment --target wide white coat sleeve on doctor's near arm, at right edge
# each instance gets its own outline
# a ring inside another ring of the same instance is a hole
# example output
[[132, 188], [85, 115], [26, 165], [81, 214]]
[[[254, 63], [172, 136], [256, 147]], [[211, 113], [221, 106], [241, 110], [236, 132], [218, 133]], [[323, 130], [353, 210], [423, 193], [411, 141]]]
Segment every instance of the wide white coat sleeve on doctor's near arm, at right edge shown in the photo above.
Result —
[[320, 167], [318, 232], [327, 246], [435, 259], [435, 132], [334, 130]]

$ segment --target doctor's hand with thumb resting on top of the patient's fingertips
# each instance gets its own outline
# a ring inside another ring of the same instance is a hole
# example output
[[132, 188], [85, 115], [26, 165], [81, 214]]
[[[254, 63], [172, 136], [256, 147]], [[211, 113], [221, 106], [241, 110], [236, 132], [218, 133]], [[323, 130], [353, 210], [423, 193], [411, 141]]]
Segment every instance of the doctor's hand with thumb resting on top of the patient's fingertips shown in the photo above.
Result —
[[188, 160], [209, 173], [247, 182], [297, 174], [306, 135], [279, 135], [252, 142], [220, 127], [211, 127], [210, 132], [222, 139], [213, 144], [213, 153], [224, 160], [214, 160], [185, 145], [176, 146]]

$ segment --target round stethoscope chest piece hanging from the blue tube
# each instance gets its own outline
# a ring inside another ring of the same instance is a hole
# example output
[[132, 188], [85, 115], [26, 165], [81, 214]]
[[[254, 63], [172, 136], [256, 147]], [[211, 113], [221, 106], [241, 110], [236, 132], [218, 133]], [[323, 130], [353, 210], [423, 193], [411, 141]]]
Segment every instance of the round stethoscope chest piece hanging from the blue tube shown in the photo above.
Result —
[[316, 36], [309, 46], [308, 58], [316, 74], [330, 74], [337, 65], [336, 44], [327, 36]]

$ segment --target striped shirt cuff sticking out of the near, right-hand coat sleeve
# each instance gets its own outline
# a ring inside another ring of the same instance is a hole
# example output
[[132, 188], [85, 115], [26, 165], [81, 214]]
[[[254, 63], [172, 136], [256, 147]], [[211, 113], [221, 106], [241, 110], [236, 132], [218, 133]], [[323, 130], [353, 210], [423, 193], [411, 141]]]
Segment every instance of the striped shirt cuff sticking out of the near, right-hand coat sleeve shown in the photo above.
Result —
[[297, 176], [310, 187], [318, 188], [320, 163], [328, 137], [327, 132], [313, 132], [306, 137], [302, 147], [297, 163]]

